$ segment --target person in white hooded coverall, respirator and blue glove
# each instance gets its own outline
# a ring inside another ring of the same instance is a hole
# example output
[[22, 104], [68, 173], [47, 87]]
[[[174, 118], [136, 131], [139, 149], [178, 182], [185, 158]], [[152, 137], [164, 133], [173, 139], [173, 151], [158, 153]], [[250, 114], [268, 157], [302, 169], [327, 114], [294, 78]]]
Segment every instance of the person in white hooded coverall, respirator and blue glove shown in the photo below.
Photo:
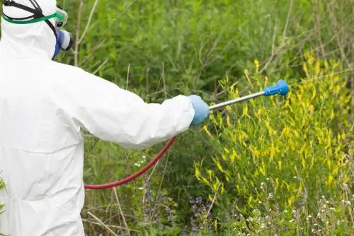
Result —
[[135, 93], [52, 59], [72, 37], [55, 0], [4, 1], [0, 40], [0, 233], [84, 235], [84, 129], [147, 148], [200, 124], [209, 108], [178, 95], [148, 104]]

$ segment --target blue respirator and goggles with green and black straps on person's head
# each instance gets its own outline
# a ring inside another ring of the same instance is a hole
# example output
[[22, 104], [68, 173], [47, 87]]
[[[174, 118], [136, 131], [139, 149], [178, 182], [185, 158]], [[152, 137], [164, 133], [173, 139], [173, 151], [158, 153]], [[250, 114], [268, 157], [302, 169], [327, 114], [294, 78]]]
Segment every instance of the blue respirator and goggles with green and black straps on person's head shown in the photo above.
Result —
[[[37, 3], [37, 1], [35, 0], [29, 0], [29, 1], [30, 4], [33, 5], [33, 8], [30, 8], [22, 4], [18, 4], [16, 3], [16, 1], [13, 0], [4, 0], [4, 6], [13, 6], [16, 8], [20, 8], [23, 11], [28, 11], [30, 13], [33, 13], [33, 16], [28, 16], [24, 18], [12, 18], [2, 13], [2, 17], [4, 18], [4, 20], [15, 24], [30, 24], [30, 23], [45, 21], [45, 23], [47, 23], [47, 25], [53, 31], [55, 38], [57, 40], [53, 58], [57, 57], [57, 54], [59, 53], [60, 50], [64, 52], [69, 51], [69, 49], [71, 49], [72, 45], [74, 44], [73, 35], [72, 33], [69, 33], [66, 30], [61, 30], [61, 28], [64, 27], [64, 25], [66, 25], [67, 23], [67, 18], [68, 18], [67, 12], [63, 11], [62, 8], [57, 6], [57, 11], [55, 13], [53, 13], [50, 16], [44, 16], [42, 13], [42, 8], [40, 8], [40, 5]], [[55, 18], [55, 25], [52, 25], [52, 23], [50, 22], [49, 19], [51, 18]]]

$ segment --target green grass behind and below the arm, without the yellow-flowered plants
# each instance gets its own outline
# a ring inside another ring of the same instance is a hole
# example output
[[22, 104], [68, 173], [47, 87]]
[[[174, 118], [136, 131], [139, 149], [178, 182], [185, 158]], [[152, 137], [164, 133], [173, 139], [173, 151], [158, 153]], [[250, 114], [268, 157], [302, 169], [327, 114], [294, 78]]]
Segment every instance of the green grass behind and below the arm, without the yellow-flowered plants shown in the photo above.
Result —
[[[161, 102], [179, 93], [197, 93], [207, 102], [223, 101], [227, 93], [219, 81], [225, 78], [236, 83], [239, 95], [256, 91], [244, 76], [244, 69], [251, 69], [254, 59], [260, 62], [261, 80], [268, 76], [271, 81], [285, 78], [296, 83], [307, 78], [302, 65], [304, 52], [309, 51], [316, 59], [339, 59], [349, 72], [339, 71], [343, 83], [351, 76], [353, 6], [348, 1], [102, 0], [98, 4], [89, 1], [81, 8], [77, 3], [67, 1], [69, 9], [75, 10], [74, 19], [80, 16], [79, 35], [91, 12], [93, 17], [86, 37], [77, 44], [76, 57], [64, 60], [135, 91], [147, 102]], [[76, 25], [73, 30], [78, 29]], [[145, 177], [113, 190], [87, 191], [83, 212], [87, 230], [94, 235], [110, 231], [108, 228], [137, 235], [197, 233], [198, 222], [205, 221], [200, 221], [201, 209], [216, 211], [219, 206], [203, 205], [210, 189], [195, 178], [192, 168], [206, 158], [207, 170], [212, 166], [210, 157], [220, 153], [200, 128], [179, 136], [172, 150]], [[95, 139], [89, 138], [85, 180], [96, 183], [130, 175], [161, 148], [135, 152], [102, 141], [92, 148], [92, 143]], [[295, 158], [293, 153], [290, 160]], [[316, 186], [309, 188], [320, 194]], [[278, 226], [272, 223], [271, 227]], [[242, 228], [229, 228], [229, 232], [234, 235]]]

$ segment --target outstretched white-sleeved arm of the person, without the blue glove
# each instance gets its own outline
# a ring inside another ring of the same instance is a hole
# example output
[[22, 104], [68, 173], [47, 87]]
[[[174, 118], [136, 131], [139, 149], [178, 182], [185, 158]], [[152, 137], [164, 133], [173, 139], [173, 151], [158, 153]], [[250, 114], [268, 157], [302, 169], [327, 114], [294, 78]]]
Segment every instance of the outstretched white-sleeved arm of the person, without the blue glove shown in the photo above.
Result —
[[195, 111], [186, 96], [149, 104], [103, 78], [81, 70], [76, 73], [79, 77], [72, 78], [62, 99], [77, 124], [105, 141], [147, 148], [181, 134], [193, 121]]

